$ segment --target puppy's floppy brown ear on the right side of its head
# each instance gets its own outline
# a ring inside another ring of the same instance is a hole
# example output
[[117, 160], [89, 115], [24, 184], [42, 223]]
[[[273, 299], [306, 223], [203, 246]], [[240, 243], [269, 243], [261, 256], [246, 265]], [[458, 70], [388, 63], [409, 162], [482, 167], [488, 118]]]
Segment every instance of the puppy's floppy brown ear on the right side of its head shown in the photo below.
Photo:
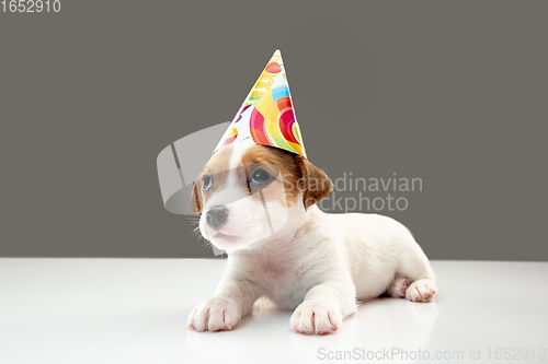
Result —
[[333, 183], [323, 171], [304, 156], [296, 155], [295, 158], [300, 169], [299, 188], [302, 191], [302, 203], [305, 209], [308, 209], [333, 191]]

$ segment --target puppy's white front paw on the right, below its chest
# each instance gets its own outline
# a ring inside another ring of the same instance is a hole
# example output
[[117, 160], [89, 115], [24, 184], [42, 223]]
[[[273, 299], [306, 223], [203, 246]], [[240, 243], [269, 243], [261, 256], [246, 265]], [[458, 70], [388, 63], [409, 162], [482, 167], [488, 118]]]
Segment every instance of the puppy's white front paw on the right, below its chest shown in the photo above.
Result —
[[290, 324], [295, 332], [326, 334], [339, 330], [342, 314], [322, 302], [304, 302], [293, 313]]

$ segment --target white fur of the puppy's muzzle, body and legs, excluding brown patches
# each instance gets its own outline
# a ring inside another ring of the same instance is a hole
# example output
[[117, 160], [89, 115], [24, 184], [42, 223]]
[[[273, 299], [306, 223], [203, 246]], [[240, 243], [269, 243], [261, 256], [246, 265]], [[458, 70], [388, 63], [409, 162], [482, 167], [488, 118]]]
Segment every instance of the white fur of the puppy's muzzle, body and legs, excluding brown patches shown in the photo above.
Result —
[[[236, 149], [231, 168], [241, 164], [241, 154]], [[205, 212], [226, 206], [229, 220], [221, 233], [235, 238], [216, 238], [202, 214], [202, 234], [227, 250], [229, 259], [214, 298], [191, 313], [190, 328], [230, 330], [262, 295], [295, 310], [290, 319], [295, 331], [319, 334], [338, 330], [342, 319], [355, 312], [356, 300], [387, 292], [415, 302], [433, 301], [436, 287], [429, 260], [397, 221], [377, 214], [328, 214], [317, 206], [305, 210], [302, 203], [288, 209], [270, 201], [265, 209], [236, 180], [229, 175], [224, 189], [203, 208]], [[281, 184], [267, 188], [283, 193]]]

